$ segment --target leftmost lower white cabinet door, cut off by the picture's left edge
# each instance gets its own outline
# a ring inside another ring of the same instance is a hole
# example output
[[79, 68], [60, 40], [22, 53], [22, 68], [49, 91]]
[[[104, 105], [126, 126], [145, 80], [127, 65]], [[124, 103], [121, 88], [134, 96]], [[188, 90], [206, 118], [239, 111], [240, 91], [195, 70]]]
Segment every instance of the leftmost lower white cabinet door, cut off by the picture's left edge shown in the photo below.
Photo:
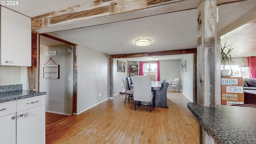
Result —
[[[0, 143], [16, 144], [16, 117], [15, 114], [0, 117]], [[11, 117], [13, 117], [11, 119]]]

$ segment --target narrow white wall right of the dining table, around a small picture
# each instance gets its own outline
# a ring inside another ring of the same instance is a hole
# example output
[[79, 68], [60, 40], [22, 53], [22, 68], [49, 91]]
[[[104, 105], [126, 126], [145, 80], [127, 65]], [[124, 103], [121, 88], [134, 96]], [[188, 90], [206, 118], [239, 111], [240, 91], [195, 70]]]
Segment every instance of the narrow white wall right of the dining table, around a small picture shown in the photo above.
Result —
[[193, 54], [184, 55], [182, 60], [180, 60], [180, 70], [181, 62], [186, 60], [186, 72], [181, 72], [180, 86], [182, 88], [182, 93], [193, 102]]

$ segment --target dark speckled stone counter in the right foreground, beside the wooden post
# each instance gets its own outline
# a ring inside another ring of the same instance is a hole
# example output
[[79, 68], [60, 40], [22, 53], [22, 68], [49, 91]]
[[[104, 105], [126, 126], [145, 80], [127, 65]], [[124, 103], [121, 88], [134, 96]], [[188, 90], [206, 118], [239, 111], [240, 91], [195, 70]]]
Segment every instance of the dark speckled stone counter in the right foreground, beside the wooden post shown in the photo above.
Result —
[[189, 102], [188, 109], [218, 144], [256, 144], [256, 108]]

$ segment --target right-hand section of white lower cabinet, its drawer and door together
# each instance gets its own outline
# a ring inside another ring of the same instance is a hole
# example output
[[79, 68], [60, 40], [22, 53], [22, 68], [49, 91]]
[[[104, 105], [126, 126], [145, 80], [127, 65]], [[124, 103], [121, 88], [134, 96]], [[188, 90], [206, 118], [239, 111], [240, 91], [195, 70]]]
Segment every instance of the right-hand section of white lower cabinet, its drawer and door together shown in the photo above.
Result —
[[17, 100], [16, 144], [45, 144], [45, 96]]

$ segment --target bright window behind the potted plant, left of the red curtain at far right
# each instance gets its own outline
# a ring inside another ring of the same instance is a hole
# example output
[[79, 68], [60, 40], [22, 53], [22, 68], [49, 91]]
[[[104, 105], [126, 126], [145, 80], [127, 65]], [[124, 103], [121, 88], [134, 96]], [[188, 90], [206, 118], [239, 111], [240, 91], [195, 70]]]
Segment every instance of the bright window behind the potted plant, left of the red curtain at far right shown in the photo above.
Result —
[[225, 65], [225, 69], [230, 69], [230, 67], [234, 77], [249, 78], [249, 68], [247, 65]]

